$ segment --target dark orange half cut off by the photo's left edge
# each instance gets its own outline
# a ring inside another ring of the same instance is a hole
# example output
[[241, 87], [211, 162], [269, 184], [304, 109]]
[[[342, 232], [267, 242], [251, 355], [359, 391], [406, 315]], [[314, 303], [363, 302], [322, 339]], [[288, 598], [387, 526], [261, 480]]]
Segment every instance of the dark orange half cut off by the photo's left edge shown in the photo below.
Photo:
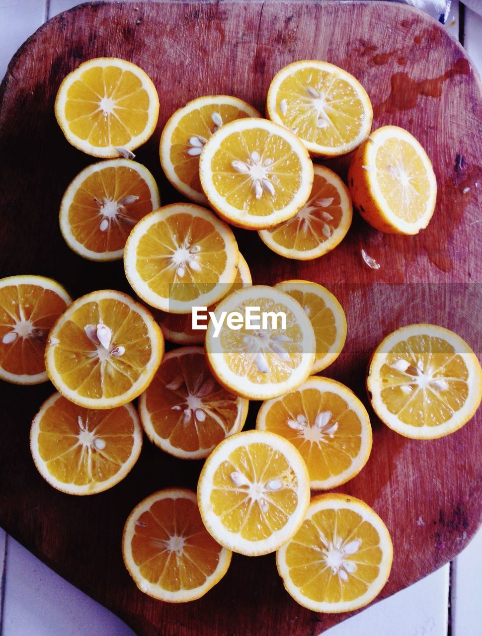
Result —
[[48, 332], [72, 298], [57, 281], [43, 276], [0, 280], [0, 380], [46, 382]]

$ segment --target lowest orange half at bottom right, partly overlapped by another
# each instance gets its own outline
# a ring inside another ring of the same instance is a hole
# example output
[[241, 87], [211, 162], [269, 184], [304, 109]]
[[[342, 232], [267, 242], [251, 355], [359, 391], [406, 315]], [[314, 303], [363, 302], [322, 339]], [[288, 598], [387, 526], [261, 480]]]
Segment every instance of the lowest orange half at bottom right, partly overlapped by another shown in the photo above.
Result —
[[350, 612], [382, 590], [392, 567], [389, 531], [376, 512], [348, 495], [313, 497], [293, 539], [276, 554], [287, 592], [313, 612]]

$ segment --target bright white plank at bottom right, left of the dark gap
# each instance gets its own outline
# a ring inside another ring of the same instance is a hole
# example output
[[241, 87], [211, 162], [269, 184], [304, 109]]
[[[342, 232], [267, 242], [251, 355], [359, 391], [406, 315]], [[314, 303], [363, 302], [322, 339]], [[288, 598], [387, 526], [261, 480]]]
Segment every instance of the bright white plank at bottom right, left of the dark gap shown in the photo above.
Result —
[[[332, 627], [323, 636], [446, 636], [449, 566]], [[462, 635], [462, 632], [459, 636]]]

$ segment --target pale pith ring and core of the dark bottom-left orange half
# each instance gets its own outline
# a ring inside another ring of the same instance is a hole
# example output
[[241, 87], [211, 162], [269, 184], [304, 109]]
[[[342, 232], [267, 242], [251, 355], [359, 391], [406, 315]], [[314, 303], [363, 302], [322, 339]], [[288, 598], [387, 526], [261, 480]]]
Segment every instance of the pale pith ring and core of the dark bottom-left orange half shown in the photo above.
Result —
[[[195, 600], [196, 598], [202, 597], [208, 590], [214, 586], [219, 579], [221, 579], [231, 562], [231, 551], [226, 550], [226, 548], [222, 548], [220, 546], [219, 549], [219, 560], [217, 563], [217, 567], [208, 576], [205, 582], [197, 588], [193, 588], [191, 590], [179, 590], [179, 591], [169, 591], [163, 590], [159, 585], [154, 583], [150, 583], [147, 581], [141, 574], [141, 569], [139, 565], [135, 563], [134, 557], [132, 556], [132, 539], [135, 534], [135, 527], [137, 524], [137, 520], [139, 517], [146, 511], [148, 511], [153, 503], [156, 501], [160, 501], [162, 499], [189, 499], [190, 501], [196, 502], [196, 494], [191, 492], [190, 490], [184, 490], [183, 488], [169, 488], [166, 490], [160, 490], [155, 492], [153, 495], [150, 495], [141, 503], [137, 504], [132, 513], [127, 518], [127, 522], [125, 523], [124, 532], [122, 536], [122, 554], [125, 562], [125, 566], [128, 569], [130, 576], [135, 581], [135, 584], [142, 592], [148, 594], [153, 598], [158, 598], [163, 601], [171, 602], [171, 603], [179, 603], [186, 602], [189, 600]], [[141, 523], [139, 523], [141, 525]], [[160, 542], [159, 548], [160, 550], [169, 550], [174, 553], [178, 553], [179, 550], [184, 548], [184, 543], [188, 537], [184, 537], [183, 535], [171, 536], [169, 540]], [[182, 543], [182, 547], [181, 547]]]

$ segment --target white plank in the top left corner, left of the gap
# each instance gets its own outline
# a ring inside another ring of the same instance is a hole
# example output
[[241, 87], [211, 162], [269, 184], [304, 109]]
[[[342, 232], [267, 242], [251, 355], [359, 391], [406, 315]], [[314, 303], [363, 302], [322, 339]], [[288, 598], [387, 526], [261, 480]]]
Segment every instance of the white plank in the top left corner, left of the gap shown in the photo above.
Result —
[[45, 20], [45, 0], [0, 0], [0, 79], [13, 54]]

